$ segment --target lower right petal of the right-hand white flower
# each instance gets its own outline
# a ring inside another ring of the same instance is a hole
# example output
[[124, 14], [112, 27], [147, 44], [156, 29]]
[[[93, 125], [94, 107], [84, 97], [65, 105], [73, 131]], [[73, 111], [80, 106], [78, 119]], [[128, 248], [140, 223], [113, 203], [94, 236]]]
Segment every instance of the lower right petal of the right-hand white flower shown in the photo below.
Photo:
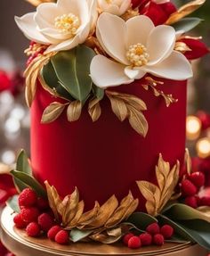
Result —
[[158, 65], [144, 66], [141, 70], [160, 78], [173, 80], [185, 80], [193, 76], [190, 62], [183, 54], [175, 51]]

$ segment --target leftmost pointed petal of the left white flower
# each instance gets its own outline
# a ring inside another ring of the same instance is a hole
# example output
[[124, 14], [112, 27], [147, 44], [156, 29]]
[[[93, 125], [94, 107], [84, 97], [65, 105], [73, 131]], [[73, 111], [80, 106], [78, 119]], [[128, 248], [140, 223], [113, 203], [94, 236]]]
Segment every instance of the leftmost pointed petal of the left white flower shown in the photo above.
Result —
[[29, 40], [43, 45], [51, 44], [51, 42], [36, 29], [34, 15], [35, 12], [30, 12], [22, 17], [15, 17], [14, 19], [20, 30]]

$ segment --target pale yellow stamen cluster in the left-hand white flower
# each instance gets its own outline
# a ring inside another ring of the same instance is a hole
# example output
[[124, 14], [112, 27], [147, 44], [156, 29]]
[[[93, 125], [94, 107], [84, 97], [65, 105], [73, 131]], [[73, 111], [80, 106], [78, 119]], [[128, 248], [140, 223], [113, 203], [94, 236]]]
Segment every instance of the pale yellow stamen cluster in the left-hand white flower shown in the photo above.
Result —
[[73, 13], [63, 14], [54, 19], [54, 26], [56, 29], [60, 29], [64, 33], [69, 32], [73, 37], [80, 26], [80, 21]]

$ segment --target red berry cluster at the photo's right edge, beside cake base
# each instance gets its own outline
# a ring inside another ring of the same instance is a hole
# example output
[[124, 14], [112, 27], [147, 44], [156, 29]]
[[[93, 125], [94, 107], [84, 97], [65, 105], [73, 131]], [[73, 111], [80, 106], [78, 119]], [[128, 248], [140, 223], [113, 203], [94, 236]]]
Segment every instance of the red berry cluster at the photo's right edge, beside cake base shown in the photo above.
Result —
[[198, 206], [210, 206], [210, 197], [199, 197], [198, 192], [205, 185], [205, 175], [201, 171], [192, 172], [187, 178], [182, 180], [181, 192], [184, 203], [192, 208]]

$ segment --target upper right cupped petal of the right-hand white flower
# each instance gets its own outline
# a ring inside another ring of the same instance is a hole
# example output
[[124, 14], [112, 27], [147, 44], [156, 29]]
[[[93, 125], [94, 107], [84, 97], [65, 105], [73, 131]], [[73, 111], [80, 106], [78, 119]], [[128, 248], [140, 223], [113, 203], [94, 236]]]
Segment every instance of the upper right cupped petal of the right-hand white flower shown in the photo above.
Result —
[[175, 29], [160, 25], [149, 34], [147, 50], [149, 53], [148, 65], [155, 65], [166, 59], [174, 50]]

